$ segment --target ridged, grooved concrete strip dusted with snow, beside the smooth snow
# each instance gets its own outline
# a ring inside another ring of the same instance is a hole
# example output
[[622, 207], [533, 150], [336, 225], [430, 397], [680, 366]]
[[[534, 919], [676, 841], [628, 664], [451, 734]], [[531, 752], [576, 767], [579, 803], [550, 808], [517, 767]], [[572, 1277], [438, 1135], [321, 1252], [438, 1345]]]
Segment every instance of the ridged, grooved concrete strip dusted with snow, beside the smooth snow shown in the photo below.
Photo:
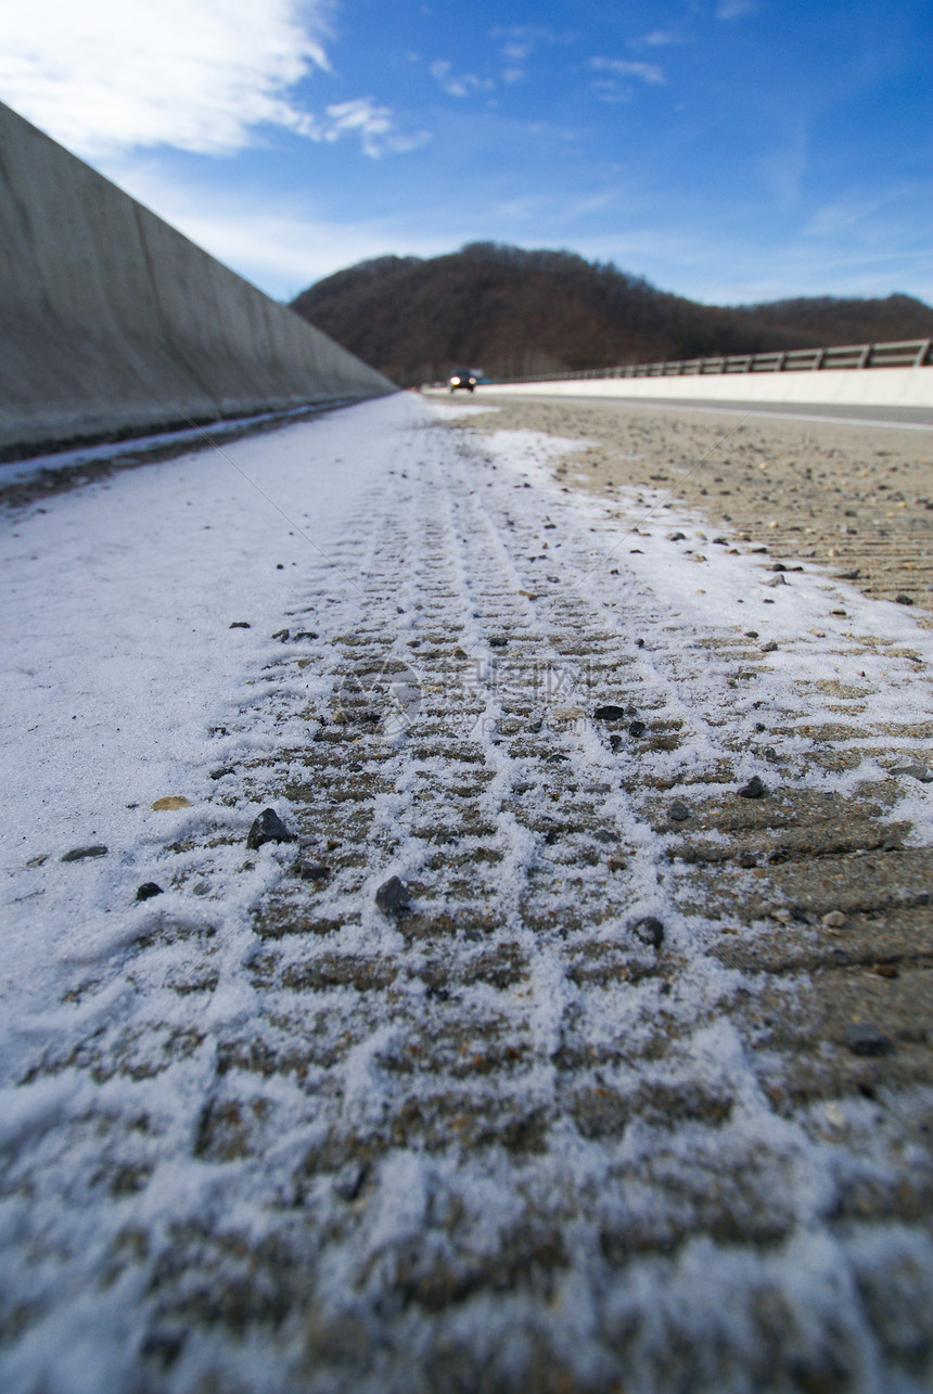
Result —
[[[437, 428], [404, 459], [331, 548], [365, 604], [310, 569], [219, 737], [243, 782], [24, 1076], [71, 1105], [4, 1177], [14, 1373], [91, 1284], [112, 1387], [909, 1388], [929, 1046], [880, 1075], [827, 1037], [852, 955], [813, 863], [856, 920], [895, 878], [908, 938], [927, 855], [881, 839], [884, 786], [813, 788], [759, 650], [591, 574], [570, 505]], [[782, 737], [780, 789], [738, 799]], [[298, 845], [244, 855], [265, 802]]]

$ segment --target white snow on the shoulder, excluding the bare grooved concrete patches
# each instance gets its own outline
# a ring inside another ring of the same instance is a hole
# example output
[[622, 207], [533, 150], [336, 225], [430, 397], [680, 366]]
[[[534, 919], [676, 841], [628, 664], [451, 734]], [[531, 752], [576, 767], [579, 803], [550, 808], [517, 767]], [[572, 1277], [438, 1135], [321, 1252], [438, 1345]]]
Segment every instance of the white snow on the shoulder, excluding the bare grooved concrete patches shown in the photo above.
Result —
[[[11, 1158], [13, 1178], [0, 1200], [0, 1238], [10, 1256], [10, 1280], [24, 1303], [33, 1302], [43, 1312], [0, 1354], [0, 1376], [8, 1390], [98, 1394], [135, 1387], [134, 1333], [148, 1295], [142, 1269], [124, 1267], [110, 1284], [102, 1280], [102, 1256], [114, 1235], [135, 1225], [170, 1246], [172, 1224], [192, 1214], [223, 1214], [240, 1232], [261, 1235], [276, 1175], [294, 1165], [310, 1140], [324, 1132], [314, 1100], [275, 1076], [266, 1082], [265, 1097], [278, 1111], [276, 1147], [259, 1167], [192, 1156], [199, 1101], [213, 1078], [211, 1041], [219, 1032], [248, 1025], [255, 1013], [255, 993], [243, 973], [255, 949], [252, 914], [282, 881], [293, 852], [262, 848], [244, 870], [241, 846], [219, 843], [205, 850], [202, 843], [181, 852], [173, 864], [195, 868], [209, 894], [199, 894], [195, 884], [194, 889], [169, 887], [153, 902], [135, 903], [134, 895], [141, 882], [165, 882], [166, 843], [197, 841], [205, 828], [234, 828], [245, 836], [265, 800], [241, 774], [219, 779], [212, 774], [252, 754], [272, 757], [311, 739], [314, 723], [307, 710], [333, 690], [328, 654], [340, 634], [395, 626], [402, 645], [424, 629], [411, 576], [397, 576], [393, 604], [374, 611], [368, 601], [367, 558], [385, 519], [403, 517], [417, 530], [421, 517], [437, 513], [446, 519], [453, 538], [462, 523], [466, 528], [478, 516], [483, 499], [477, 503], [471, 493], [485, 493], [488, 487], [490, 496], [508, 509], [516, 533], [536, 539], [540, 556], [547, 544], [547, 560], [533, 563], [536, 576], [559, 576], [590, 611], [616, 626], [626, 643], [633, 643], [635, 631], [626, 634], [630, 616], [661, 655], [633, 650], [633, 662], [642, 665], [633, 671], [643, 675], [651, 701], [664, 703], [667, 714], [682, 718], [686, 726], [676, 753], [646, 760], [646, 771], [676, 776], [671, 797], [689, 792], [692, 781], [718, 758], [708, 726], [696, 718], [696, 703], [686, 700], [688, 689], [690, 698], [700, 694], [707, 705], [721, 701], [725, 721], [750, 711], [746, 691], [725, 686], [724, 669], [708, 650], [693, 647], [700, 634], [734, 637], [756, 630], [761, 643], [778, 644], [756, 686], [756, 710], [764, 721], [789, 712], [801, 728], [819, 722], [826, 704], [826, 686], [820, 684], [827, 683], [865, 691], [859, 719], [866, 725], [884, 723], [894, 714], [902, 723], [930, 719], [933, 704], [920, 668], [933, 662], [933, 634], [909, 611], [867, 599], [809, 565], [774, 585], [777, 573], [766, 569], [768, 556], [749, 549], [728, 555], [728, 546], [714, 544], [708, 524], [661, 493], [643, 491], [644, 502], [639, 503], [635, 492], [622, 496], [619, 491], [607, 503], [565, 492], [554, 480], [552, 463], [573, 450], [572, 442], [498, 432], [476, 447], [476, 457], [464, 457], [457, 436], [438, 431], [434, 422], [469, 420], [477, 410], [484, 408], [397, 395], [286, 427], [272, 436], [128, 471], [18, 510], [0, 524], [6, 815], [0, 846], [0, 1143]], [[450, 502], [437, 502], [438, 481], [449, 489]], [[368, 526], [360, 521], [367, 510]], [[543, 533], [543, 517], [555, 527]], [[671, 542], [674, 531], [685, 538]], [[735, 539], [728, 541], [734, 546]], [[484, 545], [506, 572], [510, 567], [516, 592], [531, 588], [517, 548], [506, 555], [491, 531]], [[562, 555], [568, 556], [566, 570]], [[467, 556], [456, 565], [456, 606], [464, 623], [459, 641], [476, 661], [474, 696], [485, 704], [469, 712], [469, 723], [477, 729], [488, 722], [494, 732], [502, 705], [488, 679], [501, 658], [474, 625], [470, 597], [483, 581], [480, 562]], [[527, 604], [530, 608], [533, 599]], [[305, 616], [310, 606], [317, 606], [315, 636], [301, 641], [301, 652], [312, 662], [300, 679], [291, 669], [279, 675], [275, 665], [283, 645], [272, 636], [283, 626], [294, 627], [290, 616]], [[250, 627], [230, 627], [238, 622]], [[417, 679], [417, 654], [411, 657], [409, 648], [399, 652]], [[681, 655], [676, 680], [665, 676], [668, 652]], [[566, 696], [558, 691], [543, 700], [543, 712], [555, 701], [573, 708], [579, 683], [575, 669]], [[732, 710], [728, 703], [734, 703]], [[623, 797], [609, 792], [604, 749], [587, 730], [583, 721], [568, 726], [558, 749], [583, 771], [593, 797], [602, 800], [607, 818], [628, 842], [635, 866], [630, 913], [662, 913], [678, 951], [693, 955], [685, 999], [671, 1002], [671, 1011], [689, 1015], [696, 1004], [715, 1001], [735, 974], [700, 952], [706, 945], [696, 926], [664, 899], [657, 864], [665, 834], [636, 821]], [[812, 737], [799, 735], [785, 742], [785, 779], [798, 789], [845, 793], [856, 778], [897, 778], [902, 792], [891, 817], [908, 818], [913, 839], [929, 842], [933, 785], [890, 775], [900, 758], [895, 743], [874, 736], [854, 740], [865, 753], [858, 776], [827, 774], [813, 763], [817, 747]], [[403, 751], [403, 722], [388, 744]], [[494, 772], [485, 795], [492, 810], [513, 769], [492, 735], [484, 737], [483, 749]], [[399, 764], [392, 793], [377, 800], [377, 850], [357, 898], [363, 909], [347, 930], [344, 948], [357, 945], [374, 958], [381, 951], [399, 952], [397, 930], [375, 910], [372, 895], [389, 875], [417, 877], [420, 871], [424, 842], [413, 831], [420, 774], [435, 779], [450, 775], [441, 768], [441, 757], [435, 761]], [[736, 768], [741, 778], [763, 769], [752, 749]], [[223, 804], [216, 799], [219, 788]], [[180, 796], [188, 806], [153, 810], [152, 804], [166, 796]], [[276, 802], [275, 793], [269, 802]], [[379, 829], [388, 836], [406, 828], [410, 835], [396, 838], [390, 856], [382, 857]], [[605, 994], [586, 1005], [580, 988], [522, 930], [519, 895], [536, 852], [516, 820], [501, 817], [499, 836], [506, 849], [499, 878], [503, 921], [522, 937], [533, 959], [523, 988], [529, 1001], [515, 1005], [531, 1020], [534, 1058], [520, 1083], [530, 1107], [554, 1089], [552, 1057], [568, 1013], [586, 1011], [594, 1040], [625, 1032], [637, 1036], [647, 1027], [637, 993]], [[92, 845], [106, 846], [106, 855], [61, 861], [71, 849]], [[558, 909], [572, 905], [572, 899], [562, 902], [558, 891], [554, 895]], [[138, 963], [127, 956], [166, 912], [183, 914], [192, 933], [198, 926], [216, 928], [213, 991], [197, 997], [169, 991], [166, 984], [199, 972], [199, 959], [184, 940], [166, 942]], [[409, 995], [417, 1016], [424, 987], [414, 967], [413, 960], [399, 993]], [[88, 980], [96, 984], [95, 991], [75, 991]], [[494, 999], [492, 988], [483, 983], [470, 993], [462, 1004], [464, 1012], [481, 1013]], [[331, 994], [335, 1018], [346, 1011], [349, 1019], [346, 994], [339, 987]], [[158, 1015], [160, 1023], [187, 1030], [194, 1004], [206, 1040], [170, 1069], [148, 1073], [145, 1066], [158, 1057], [162, 1037], [148, 1037], [146, 1023]], [[46, 1046], [67, 1057], [70, 1041], [86, 1040], [98, 1027], [105, 1033], [117, 1019], [138, 1032], [137, 1078], [113, 1073], [95, 1079], [93, 1072], [78, 1068], [79, 1061], [31, 1076], [29, 1068]], [[392, 1019], [377, 1019], [346, 1057], [342, 1108], [344, 1118], [357, 1119], [360, 1126], [388, 1107], [390, 1086], [381, 1062], [397, 1039]], [[582, 1379], [598, 1380], [605, 1372], [593, 1354], [597, 1330], [612, 1324], [622, 1330], [633, 1313], [642, 1322], [633, 1359], [643, 1358], [646, 1369], [662, 1349], [671, 1313], [681, 1328], [707, 1334], [721, 1328], [724, 1341], [738, 1351], [746, 1348], [752, 1359], [754, 1334], [743, 1303], [767, 1278], [781, 1288], [801, 1330], [807, 1323], [816, 1330], [826, 1317], [848, 1333], [851, 1345], [862, 1352], [854, 1387], [881, 1394], [884, 1373], [865, 1335], [852, 1274], [858, 1263], [866, 1269], [887, 1263], [887, 1253], [894, 1273], [909, 1257], [915, 1294], [923, 1284], [933, 1294], [929, 1243], [895, 1225], [879, 1227], [856, 1236], [842, 1259], [814, 1218], [833, 1185], [828, 1150], [774, 1114], [728, 1020], [699, 1029], [685, 1044], [679, 1065], [665, 1068], [672, 1071], [668, 1079], [676, 1079], [679, 1069], [682, 1078], [704, 1089], [728, 1086], [734, 1092], [738, 1107], [728, 1139], [731, 1154], [748, 1153], [749, 1174], [766, 1192], [770, 1174], [774, 1189], [782, 1193], [787, 1178], [794, 1177], [795, 1238], [757, 1257], [710, 1239], [696, 1241], [669, 1264], [636, 1264], [630, 1281], [609, 1289], [597, 1310], [598, 1264], [582, 1235], [554, 1303], [554, 1341], [568, 1365]], [[622, 1087], [623, 1071], [611, 1083]], [[859, 1107], [847, 1105], [847, 1118], [870, 1133], [872, 1105], [865, 1103], [862, 1114]], [[99, 1143], [93, 1128], [82, 1128], [81, 1121], [134, 1111], [158, 1124], [156, 1164], [145, 1189], [114, 1200], [95, 1192]], [[826, 1126], [834, 1126], [833, 1117]], [[867, 1171], [883, 1170], [887, 1158], [866, 1154], [862, 1164]], [[381, 1263], [388, 1264], [404, 1243], [417, 1245], [428, 1217], [442, 1210], [455, 1185], [474, 1225], [477, 1252], [483, 1252], [484, 1243], [492, 1243], [520, 1217], [520, 1193], [547, 1196], [558, 1213], [572, 1178], [573, 1186], [589, 1185], [600, 1197], [598, 1207], [611, 1225], [651, 1211], [658, 1172], [650, 1182], [650, 1168], [662, 1172], [667, 1167], [676, 1178], [690, 1165], [697, 1175], [713, 1177], [718, 1158], [700, 1124], [683, 1124], [671, 1153], [662, 1157], [654, 1129], [636, 1124], [626, 1131], [612, 1165], [628, 1178], [642, 1172], [643, 1184], [608, 1185], [604, 1144], [569, 1132], [552, 1139], [540, 1164], [529, 1160], [520, 1167], [505, 1157], [455, 1164], [448, 1156], [397, 1151], [382, 1168], [360, 1241], [370, 1256], [367, 1281], [377, 1284]], [[18, 1188], [17, 1178], [26, 1172], [29, 1186]], [[79, 1203], [63, 1206], [64, 1193], [79, 1195]], [[312, 1203], [324, 1213], [332, 1200], [315, 1192]], [[349, 1249], [335, 1250], [319, 1294], [335, 1310], [365, 1302], [368, 1289], [353, 1287], [354, 1262]], [[503, 1342], [513, 1341], [519, 1369], [530, 1340], [523, 1337], [527, 1310], [516, 1296], [477, 1299], [457, 1317], [460, 1334], [470, 1340], [477, 1331], [501, 1333]], [[654, 1326], [646, 1312], [654, 1313]], [[411, 1320], [403, 1335], [417, 1352], [424, 1326]], [[310, 1379], [307, 1372], [294, 1374], [304, 1338], [287, 1324], [278, 1342], [247, 1335], [233, 1351], [220, 1334], [205, 1337], [185, 1351], [166, 1376], [165, 1388], [206, 1388], [199, 1381], [213, 1379], [211, 1372], [216, 1370], [226, 1370], [232, 1387], [317, 1388], [312, 1381], [303, 1383]], [[697, 1372], [697, 1388], [713, 1387], [707, 1374]], [[381, 1388], [378, 1374], [343, 1387]], [[738, 1376], [729, 1387], [746, 1388]], [[912, 1386], [898, 1387], [907, 1391]]]

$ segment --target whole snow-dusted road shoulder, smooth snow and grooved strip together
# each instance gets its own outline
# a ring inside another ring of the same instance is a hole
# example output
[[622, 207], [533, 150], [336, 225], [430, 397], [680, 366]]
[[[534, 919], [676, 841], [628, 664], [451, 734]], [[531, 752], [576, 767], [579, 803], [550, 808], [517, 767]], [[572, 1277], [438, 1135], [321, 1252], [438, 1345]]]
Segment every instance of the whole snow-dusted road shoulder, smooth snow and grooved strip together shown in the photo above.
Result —
[[450, 418], [4, 520], [4, 1383], [919, 1390], [933, 636]]

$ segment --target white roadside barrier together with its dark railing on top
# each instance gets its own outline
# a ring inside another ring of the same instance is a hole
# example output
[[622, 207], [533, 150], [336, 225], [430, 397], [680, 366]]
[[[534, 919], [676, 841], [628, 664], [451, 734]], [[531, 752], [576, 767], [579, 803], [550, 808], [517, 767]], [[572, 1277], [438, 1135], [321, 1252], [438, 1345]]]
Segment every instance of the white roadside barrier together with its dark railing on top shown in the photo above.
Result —
[[933, 339], [538, 374], [477, 390], [933, 407]]

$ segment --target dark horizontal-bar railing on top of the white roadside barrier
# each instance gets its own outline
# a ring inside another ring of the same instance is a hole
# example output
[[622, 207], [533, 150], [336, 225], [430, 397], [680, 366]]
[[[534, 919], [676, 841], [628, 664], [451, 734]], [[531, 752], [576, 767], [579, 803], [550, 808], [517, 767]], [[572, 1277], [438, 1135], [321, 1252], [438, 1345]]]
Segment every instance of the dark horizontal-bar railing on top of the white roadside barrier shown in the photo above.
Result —
[[[690, 378], [725, 372], [820, 372], [826, 368], [925, 368], [933, 339], [905, 339], [886, 344], [844, 344], [834, 348], [788, 348], [784, 353], [734, 354], [720, 358], [683, 358], [672, 362], [636, 362], [621, 368], [587, 368], [582, 372], [543, 372], [509, 382], [577, 382], [586, 378]], [[505, 382], [506, 379], [498, 379]]]

